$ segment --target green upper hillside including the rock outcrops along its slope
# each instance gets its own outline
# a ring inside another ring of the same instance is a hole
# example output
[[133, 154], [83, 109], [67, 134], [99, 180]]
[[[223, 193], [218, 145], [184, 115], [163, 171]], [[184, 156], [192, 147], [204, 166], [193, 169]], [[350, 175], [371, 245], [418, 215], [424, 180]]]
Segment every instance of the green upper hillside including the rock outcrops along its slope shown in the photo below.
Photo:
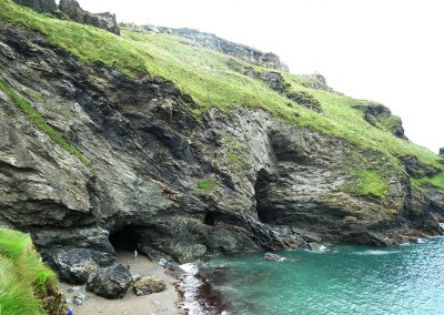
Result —
[[[183, 30], [141, 32], [122, 27], [118, 37], [37, 13], [11, 0], [1, 0], [0, 19], [42, 32], [51, 44], [87, 64], [100, 63], [131, 78], [150, 75], [174, 82], [198, 105], [183, 100], [196, 120], [214, 106], [228, 114], [241, 105], [259, 108], [299, 126], [382, 152], [394, 161], [416, 156], [423, 164], [443, 167], [442, 158], [402, 139], [400, 119], [390, 111], [374, 110], [381, 104], [334, 92], [322, 75], [271, 70], [235, 54], [221, 53], [213, 44], [196, 41], [194, 32], [190, 39], [190, 32]], [[436, 179], [430, 182], [436, 184]], [[443, 184], [438, 181], [438, 185]]]

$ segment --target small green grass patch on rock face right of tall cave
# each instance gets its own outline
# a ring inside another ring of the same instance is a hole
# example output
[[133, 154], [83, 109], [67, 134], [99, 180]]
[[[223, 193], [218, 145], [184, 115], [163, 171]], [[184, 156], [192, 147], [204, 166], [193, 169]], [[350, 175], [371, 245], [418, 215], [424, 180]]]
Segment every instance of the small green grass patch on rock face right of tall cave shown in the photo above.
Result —
[[346, 184], [344, 191], [356, 195], [373, 195], [384, 197], [389, 185], [381, 174], [373, 170], [354, 169], [354, 180]]

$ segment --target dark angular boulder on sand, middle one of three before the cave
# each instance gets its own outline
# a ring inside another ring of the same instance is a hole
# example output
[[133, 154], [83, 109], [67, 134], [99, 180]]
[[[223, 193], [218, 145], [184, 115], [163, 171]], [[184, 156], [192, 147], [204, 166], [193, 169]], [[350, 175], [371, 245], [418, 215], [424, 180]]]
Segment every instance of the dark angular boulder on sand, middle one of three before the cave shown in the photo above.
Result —
[[105, 298], [115, 299], [125, 295], [131, 283], [131, 273], [121, 264], [114, 264], [110, 267], [100, 268], [95, 276], [88, 282], [87, 291]]

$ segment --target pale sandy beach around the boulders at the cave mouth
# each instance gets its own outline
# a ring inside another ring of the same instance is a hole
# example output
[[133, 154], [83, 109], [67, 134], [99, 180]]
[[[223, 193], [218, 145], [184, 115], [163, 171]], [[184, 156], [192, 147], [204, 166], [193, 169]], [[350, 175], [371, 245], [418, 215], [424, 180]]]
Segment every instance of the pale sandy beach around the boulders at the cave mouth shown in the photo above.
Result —
[[[73, 306], [73, 315], [179, 315], [180, 296], [175, 289], [178, 280], [168, 275], [164, 268], [152, 263], [144, 256], [139, 255], [134, 261], [134, 254], [120, 251], [117, 253], [118, 261], [127, 266], [127, 262], [131, 263], [130, 272], [133, 275], [151, 275], [158, 276], [165, 281], [167, 289], [144, 296], [137, 296], [132, 288], [128, 291], [121, 299], [105, 299], [90, 292], [85, 292], [83, 286], [72, 286], [64, 283], [60, 284], [60, 289], [65, 294], [67, 298], [79, 293], [87, 294], [90, 298], [82, 306]], [[74, 292], [68, 293], [68, 288], [74, 288]]]

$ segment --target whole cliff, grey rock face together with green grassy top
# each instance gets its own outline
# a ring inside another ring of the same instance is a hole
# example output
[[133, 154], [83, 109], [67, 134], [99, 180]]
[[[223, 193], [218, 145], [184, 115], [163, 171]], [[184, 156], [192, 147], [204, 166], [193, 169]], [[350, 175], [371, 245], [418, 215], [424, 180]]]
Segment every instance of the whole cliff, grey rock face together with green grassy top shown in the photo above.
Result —
[[0, 30], [0, 224], [30, 232], [64, 281], [113, 264], [110, 237], [190, 262], [313, 233], [377, 245], [442, 233], [442, 156], [320, 75], [10, 0]]

